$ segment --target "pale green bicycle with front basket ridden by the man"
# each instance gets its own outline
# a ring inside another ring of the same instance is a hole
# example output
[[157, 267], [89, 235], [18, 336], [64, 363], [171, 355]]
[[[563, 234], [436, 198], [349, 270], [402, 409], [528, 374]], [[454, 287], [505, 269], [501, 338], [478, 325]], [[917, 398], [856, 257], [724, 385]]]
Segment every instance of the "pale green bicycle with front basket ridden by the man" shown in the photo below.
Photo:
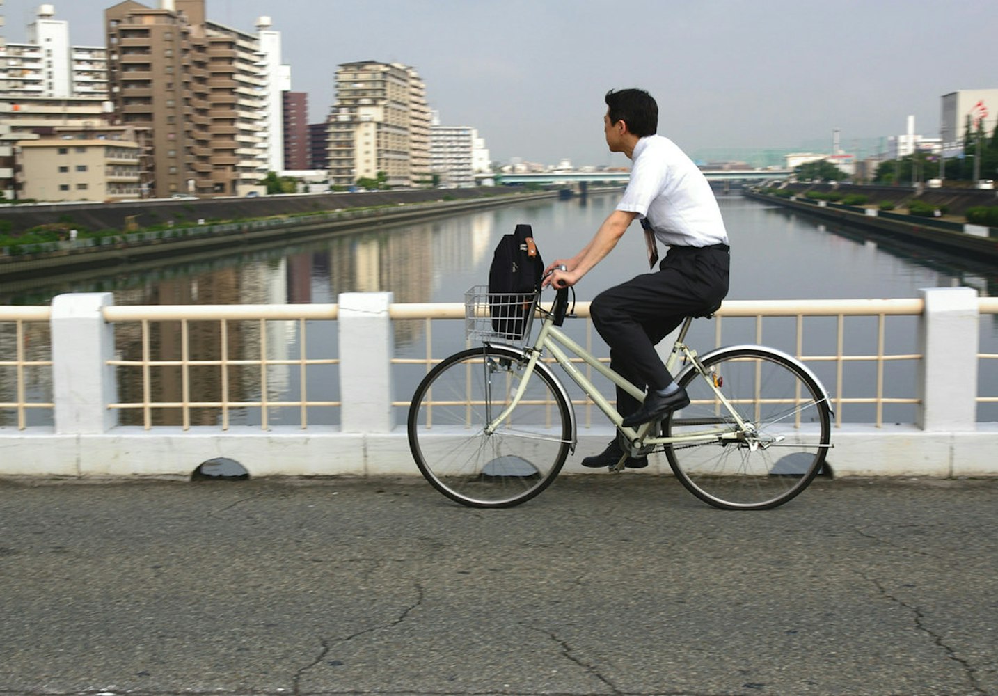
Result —
[[[540, 292], [525, 301], [469, 290], [466, 332], [482, 345], [441, 360], [413, 394], [410, 450], [423, 476], [448, 498], [471, 507], [523, 503], [547, 488], [575, 451], [573, 404], [545, 354], [616, 426], [625, 455], [611, 471], [623, 470], [628, 454], [661, 451], [701, 500], [723, 509], [769, 509], [799, 494], [824, 465], [832, 412], [810, 369], [774, 348], [730, 346], [700, 355], [686, 344], [693, 320], [711, 318], [720, 306], [684, 320], [666, 361], [690, 405], [661, 424], [630, 428], [568, 353], [639, 400], [644, 392], [560, 329], [570, 316], [567, 288], [556, 292], [550, 310], [539, 298]], [[530, 341], [535, 316], [543, 321]], [[677, 373], [681, 358], [685, 366]]]

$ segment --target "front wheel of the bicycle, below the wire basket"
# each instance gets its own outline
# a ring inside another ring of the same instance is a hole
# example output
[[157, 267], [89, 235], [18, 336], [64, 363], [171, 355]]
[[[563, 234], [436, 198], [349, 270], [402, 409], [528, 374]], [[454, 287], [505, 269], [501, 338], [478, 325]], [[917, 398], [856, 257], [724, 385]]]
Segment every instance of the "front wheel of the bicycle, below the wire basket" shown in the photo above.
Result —
[[[486, 346], [455, 353], [416, 388], [409, 406], [409, 449], [441, 493], [472, 507], [509, 507], [544, 490], [568, 457], [570, 404], [542, 369], [525, 374], [524, 355]], [[486, 425], [520, 401], [491, 433]]]

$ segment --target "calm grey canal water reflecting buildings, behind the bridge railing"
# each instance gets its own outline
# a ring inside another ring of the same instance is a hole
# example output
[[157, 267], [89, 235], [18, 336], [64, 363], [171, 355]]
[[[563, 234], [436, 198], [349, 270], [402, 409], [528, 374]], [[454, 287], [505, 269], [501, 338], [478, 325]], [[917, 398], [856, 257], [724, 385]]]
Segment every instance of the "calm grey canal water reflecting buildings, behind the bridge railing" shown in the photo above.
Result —
[[[613, 210], [619, 192], [591, 195], [585, 199], [544, 200], [497, 208], [453, 218], [406, 225], [384, 227], [376, 231], [338, 234], [328, 239], [299, 246], [263, 251], [240, 251], [231, 256], [198, 262], [164, 266], [141, 273], [128, 270], [83, 279], [35, 283], [20, 288], [8, 288], [0, 293], [0, 303], [9, 305], [43, 305], [61, 293], [110, 292], [118, 305], [186, 305], [186, 304], [283, 304], [335, 303], [340, 293], [391, 292], [396, 303], [456, 303], [471, 286], [484, 284], [493, 249], [503, 234], [512, 232], [517, 224], [530, 224], [546, 262], [573, 256], [586, 244], [599, 224]], [[904, 247], [886, 240], [869, 239], [867, 235], [842, 225], [828, 225], [779, 207], [749, 201], [735, 194], [720, 196], [719, 202], [729, 230], [732, 245], [732, 281], [730, 300], [805, 300], [805, 299], [881, 299], [917, 298], [921, 288], [968, 286], [982, 296], [998, 292], [998, 269], [970, 261], [943, 259], [937, 254], [918, 248]], [[628, 232], [617, 249], [577, 286], [579, 301], [589, 301], [603, 288], [641, 273], [646, 268], [644, 238], [638, 226]], [[993, 317], [981, 324], [982, 350], [998, 352], [998, 336]], [[761, 343], [795, 350], [795, 329], [792, 320], [767, 320]], [[279, 323], [278, 323], [279, 324]], [[312, 326], [314, 324], [315, 326]], [[322, 325], [326, 326], [322, 326]], [[329, 323], [309, 323], [306, 348], [308, 355], [335, 355], [335, 329]], [[437, 323], [440, 324], [440, 323]], [[442, 356], [462, 348], [461, 323], [443, 329], [434, 327], [433, 351]], [[583, 323], [579, 323], [582, 325]], [[268, 337], [269, 342], [286, 346], [274, 348], [275, 357], [293, 359], [297, 356], [297, 331], [293, 323], [272, 332], [280, 337]], [[698, 322], [693, 343], [702, 350], [713, 348], [713, 323]], [[756, 343], [754, 322], [724, 320], [721, 343]], [[163, 327], [162, 335], [154, 337], [154, 356], [175, 359], [179, 348], [168, 340], [173, 328]], [[395, 341], [401, 356], [425, 355], [425, 326], [422, 323], [398, 323]], [[578, 332], [585, 332], [583, 328]], [[258, 339], [249, 336], [249, 345]], [[131, 332], [120, 332], [119, 353], [138, 356], [141, 349]], [[888, 351], [917, 351], [917, 322], [913, 318], [888, 318]], [[242, 354], [241, 332], [229, 333], [233, 345], [230, 355]], [[207, 329], [199, 341], [204, 341], [206, 358], [213, 342], [220, 338]], [[807, 320], [804, 354], [834, 352], [833, 320]], [[593, 338], [596, 346], [598, 337]], [[3, 341], [3, 343], [8, 343]], [[847, 352], [875, 352], [876, 327], [873, 320], [854, 320], [846, 333]], [[197, 347], [192, 347], [196, 349]], [[249, 350], [249, 348], [247, 348]], [[217, 353], [217, 349], [216, 349]], [[258, 353], [257, 353], [258, 354]], [[217, 357], [217, 355], [215, 355]], [[990, 360], [989, 362], [995, 362]], [[824, 365], [815, 370], [825, 381], [834, 382], [834, 375]], [[913, 361], [888, 366], [887, 381], [894, 392], [913, 395], [917, 365]], [[214, 392], [217, 368], [200, 368], [204, 374], [193, 375]], [[234, 368], [235, 369], [235, 368]], [[396, 376], [397, 398], [411, 393], [424, 367], [399, 367]], [[157, 385], [170, 384], [178, 375], [167, 373], [156, 379]], [[196, 370], [197, 371], [197, 370]], [[269, 380], [268, 399], [297, 397], [298, 378], [293, 367], [274, 366]], [[998, 393], [995, 369], [982, 367], [982, 392]], [[258, 398], [258, 367], [234, 375], [242, 385], [245, 400]], [[313, 377], [313, 372], [315, 376]], [[308, 397], [335, 399], [335, 370], [309, 370]], [[122, 398], [134, 396], [138, 388], [127, 370], [120, 373]], [[315, 384], [312, 384], [312, 381]], [[872, 364], [855, 363], [849, 367], [848, 381], [859, 395], [868, 395], [868, 384], [875, 381]], [[900, 385], [900, 386], [899, 386]], [[3, 385], [0, 384], [0, 388]], [[39, 388], [44, 389], [44, 384]], [[166, 388], [166, 387], [163, 387]], [[843, 389], [845, 391], [845, 389]], [[327, 392], [324, 396], [319, 392]], [[131, 396], [130, 396], [131, 394]], [[193, 395], [194, 396], [194, 395]], [[217, 395], [204, 393], [196, 400], [216, 400]], [[0, 400], [3, 400], [0, 398]], [[134, 399], [133, 399], [134, 400]], [[173, 400], [168, 398], [166, 400]], [[998, 419], [990, 404], [979, 408], [979, 419]], [[874, 419], [872, 406], [849, 408], [846, 419], [869, 422]], [[272, 423], [295, 421], [297, 409], [279, 407], [268, 410]], [[913, 406], [889, 407], [885, 419], [911, 422]], [[133, 416], [128, 411], [124, 419]], [[137, 417], [137, 416], [136, 416]], [[328, 415], [309, 416], [309, 422], [335, 422], [335, 409]], [[396, 419], [402, 422], [404, 416]], [[0, 420], [5, 417], [0, 414]], [[7, 418], [9, 420], [9, 418]], [[218, 413], [203, 409], [196, 418], [204, 424], [218, 420]], [[258, 409], [241, 409], [233, 422], [259, 421]], [[157, 422], [177, 422], [177, 414], [160, 413]]]

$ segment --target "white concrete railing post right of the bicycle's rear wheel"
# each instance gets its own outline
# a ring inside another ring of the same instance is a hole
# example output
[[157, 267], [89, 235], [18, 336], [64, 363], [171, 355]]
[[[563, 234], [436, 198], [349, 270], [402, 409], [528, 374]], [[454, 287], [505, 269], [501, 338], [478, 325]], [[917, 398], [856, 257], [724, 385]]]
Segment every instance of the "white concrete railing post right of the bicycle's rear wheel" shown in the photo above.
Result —
[[923, 430], [974, 430], [980, 331], [977, 291], [930, 288], [919, 293], [925, 313], [920, 328], [922, 402], [915, 423]]

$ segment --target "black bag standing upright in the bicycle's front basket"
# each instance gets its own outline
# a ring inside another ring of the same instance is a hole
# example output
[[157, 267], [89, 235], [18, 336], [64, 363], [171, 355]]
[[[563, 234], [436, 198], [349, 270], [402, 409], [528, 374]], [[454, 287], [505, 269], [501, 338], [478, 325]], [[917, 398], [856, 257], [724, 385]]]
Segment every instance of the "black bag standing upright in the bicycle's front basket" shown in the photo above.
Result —
[[544, 262], [529, 225], [503, 235], [489, 269], [489, 311], [496, 334], [519, 340], [527, 330]]

